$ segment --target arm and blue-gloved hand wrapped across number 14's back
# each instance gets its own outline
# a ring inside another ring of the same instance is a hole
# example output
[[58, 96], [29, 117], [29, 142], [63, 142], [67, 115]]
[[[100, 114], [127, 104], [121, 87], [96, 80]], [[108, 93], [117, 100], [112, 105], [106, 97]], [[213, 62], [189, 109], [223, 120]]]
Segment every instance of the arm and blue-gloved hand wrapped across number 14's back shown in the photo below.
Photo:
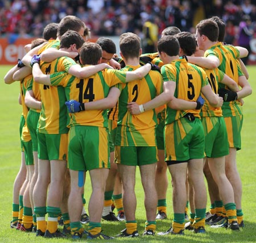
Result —
[[80, 103], [76, 100], [69, 100], [65, 102], [69, 113], [90, 111], [90, 110], [106, 110], [113, 108], [117, 104], [120, 90], [117, 87], [112, 87], [109, 90], [108, 97], [93, 102]]

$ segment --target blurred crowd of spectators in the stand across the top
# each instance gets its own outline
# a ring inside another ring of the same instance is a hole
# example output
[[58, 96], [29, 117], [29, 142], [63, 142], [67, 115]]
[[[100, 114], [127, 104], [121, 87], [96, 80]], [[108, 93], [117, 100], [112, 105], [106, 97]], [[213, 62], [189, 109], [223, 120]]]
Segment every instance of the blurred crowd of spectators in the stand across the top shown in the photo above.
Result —
[[[226, 42], [233, 43], [246, 23], [250, 37], [256, 27], [256, 0], [0, 0], [0, 37], [42, 36], [43, 28], [65, 15], [84, 20], [92, 36], [137, 33], [144, 44], [154, 42], [167, 26], [194, 32], [204, 18], [226, 22]], [[152, 39], [152, 40], [151, 40]]]

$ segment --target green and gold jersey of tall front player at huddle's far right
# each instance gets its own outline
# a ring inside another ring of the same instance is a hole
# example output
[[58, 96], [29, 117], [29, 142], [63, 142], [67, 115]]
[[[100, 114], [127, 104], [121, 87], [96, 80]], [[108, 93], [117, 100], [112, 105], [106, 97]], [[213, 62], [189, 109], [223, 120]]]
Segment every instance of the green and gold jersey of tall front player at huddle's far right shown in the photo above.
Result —
[[[218, 68], [238, 84], [238, 78], [242, 73], [241, 66], [237, 61], [237, 58], [240, 56], [238, 49], [232, 45], [223, 45], [219, 42], [205, 51], [204, 56], [207, 57], [209, 55], [217, 56], [218, 60], [220, 60]], [[222, 87], [225, 86], [220, 83], [220, 88]], [[242, 115], [240, 102], [238, 100], [224, 102], [222, 114], [224, 117]]]

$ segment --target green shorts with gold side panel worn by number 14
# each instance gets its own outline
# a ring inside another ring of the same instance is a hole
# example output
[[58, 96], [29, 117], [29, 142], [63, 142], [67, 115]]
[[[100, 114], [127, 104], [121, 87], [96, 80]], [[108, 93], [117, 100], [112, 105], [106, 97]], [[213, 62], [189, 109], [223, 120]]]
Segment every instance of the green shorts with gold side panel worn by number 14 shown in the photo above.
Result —
[[110, 169], [108, 131], [76, 125], [69, 130], [68, 167], [71, 170]]

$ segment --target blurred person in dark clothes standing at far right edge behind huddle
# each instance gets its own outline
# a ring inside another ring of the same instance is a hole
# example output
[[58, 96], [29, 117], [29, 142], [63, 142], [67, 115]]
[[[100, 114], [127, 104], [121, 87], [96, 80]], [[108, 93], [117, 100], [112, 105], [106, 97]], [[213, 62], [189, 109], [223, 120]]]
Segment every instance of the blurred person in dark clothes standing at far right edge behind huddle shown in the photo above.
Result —
[[250, 40], [254, 34], [254, 31], [251, 28], [251, 18], [249, 15], [243, 15], [242, 22], [239, 24], [239, 36], [238, 36], [238, 45], [245, 47], [249, 54], [247, 57], [241, 58], [243, 63], [246, 65], [251, 53]]

